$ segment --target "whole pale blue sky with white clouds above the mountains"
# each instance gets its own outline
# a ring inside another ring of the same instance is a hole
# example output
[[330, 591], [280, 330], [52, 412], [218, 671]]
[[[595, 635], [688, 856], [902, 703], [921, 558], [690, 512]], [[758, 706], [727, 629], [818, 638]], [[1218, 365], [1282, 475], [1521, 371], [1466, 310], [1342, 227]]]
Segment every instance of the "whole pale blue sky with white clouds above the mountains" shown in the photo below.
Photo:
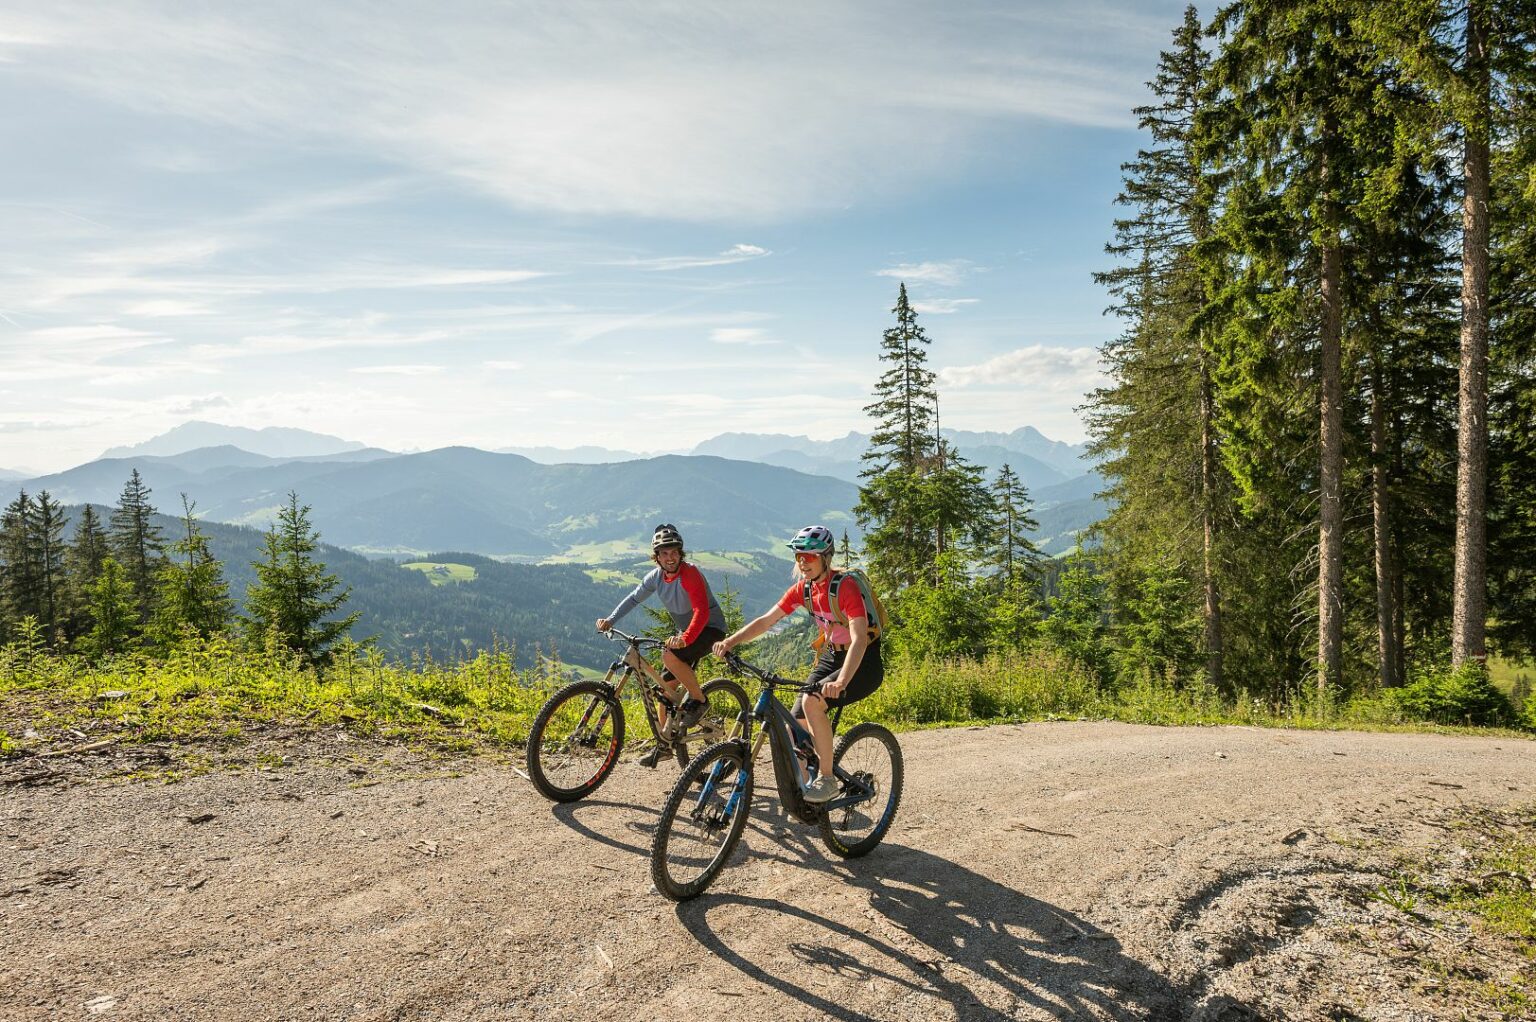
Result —
[[1161, 0], [0, 0], [0, 469], [187, 420], [392, 450], [1080, 441]]

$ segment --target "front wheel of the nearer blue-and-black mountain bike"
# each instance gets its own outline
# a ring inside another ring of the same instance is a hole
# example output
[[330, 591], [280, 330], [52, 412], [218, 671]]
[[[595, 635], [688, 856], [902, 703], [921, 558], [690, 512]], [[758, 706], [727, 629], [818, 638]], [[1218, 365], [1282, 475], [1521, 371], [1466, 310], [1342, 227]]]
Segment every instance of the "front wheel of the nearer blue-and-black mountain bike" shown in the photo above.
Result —
[[[746, 756], [746, 742], [710, 745], [667, 796], [651, 839], [651, 881], [667, 898], [688, 901], [702, 894], [742, 839], [753, 805]], [[702, 781], [700, 788], [696, 781]]]

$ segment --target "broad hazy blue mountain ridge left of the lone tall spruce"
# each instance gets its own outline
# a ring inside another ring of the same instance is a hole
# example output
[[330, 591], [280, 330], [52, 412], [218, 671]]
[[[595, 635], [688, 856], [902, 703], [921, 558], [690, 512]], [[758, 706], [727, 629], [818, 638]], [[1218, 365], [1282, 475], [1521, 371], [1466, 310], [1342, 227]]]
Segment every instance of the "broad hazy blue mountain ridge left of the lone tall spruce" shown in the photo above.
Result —
[[648, 550], [670, 521], [690, 546], [776, 550], [800, 526], [857, 536], [857, 487], [725, 458], [667, 455], [617, 464], [542, 466], [521, 455], [444, 447], [412, 455], [270, 460], [240, 449], [169, 458], [108, 458], [26, 481], [32, 492], [112, 504], [137, 469], [163, 509], [177, 493], [210, 521], [266, 527], [289, 490], [313, 507], [329, 543], [372, 553], [467, 550], [488, 556], [570, 555], [605, 561]]

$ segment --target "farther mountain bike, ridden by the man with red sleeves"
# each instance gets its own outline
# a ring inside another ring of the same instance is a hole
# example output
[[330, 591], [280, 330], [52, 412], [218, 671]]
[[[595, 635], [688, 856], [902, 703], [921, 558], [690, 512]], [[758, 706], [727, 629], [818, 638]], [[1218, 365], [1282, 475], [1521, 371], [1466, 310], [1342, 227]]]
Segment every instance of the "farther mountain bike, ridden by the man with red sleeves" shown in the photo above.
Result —
[[[641, 705], [651, 735], [673, 752], [679, 767], [688, 765], [690, 744], [699, 748], [728, 738], [737, 721], [746, 716], [746, 690], [730, 678], [716, 678], [703, 684], [703, 698], [710, 704], [703, 716], [693, 727], [679, 730], [679, 716], [662, 687], [660, 672], [645, 659], [648, 650], [662, 649], [665, 642], [617, 629], [608, 629], [607, 635], [628, 645], [624, 655], [608, 665], [602, 681], [573, 681], [550, 696], [528, 730], [528, 779], [554, 802], [587, 798], [613, 773], [624, 748], [621, 698], [631, 678], [639, 679]], [[662, 708], [667, 712], [665, 725], [660, 722]]]

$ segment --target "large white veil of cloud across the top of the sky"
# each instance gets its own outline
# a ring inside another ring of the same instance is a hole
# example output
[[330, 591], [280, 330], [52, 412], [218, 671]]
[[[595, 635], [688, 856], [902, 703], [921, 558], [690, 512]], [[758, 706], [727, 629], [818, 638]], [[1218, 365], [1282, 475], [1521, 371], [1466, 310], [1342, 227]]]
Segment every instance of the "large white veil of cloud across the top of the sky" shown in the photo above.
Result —
[[687, 6], [384, 18], [361, 3], [55, 0], [8, 28], [0, 54], [137, 111], [346, 140], [521, 207], [766, 218], [954, 174], [1000, 118], [1130, 124], [1146, 66], [1126, 57], [1167, 25], [1098, 6], [1074, 9], [1080, 22], [1043, 0], [791, 3], [754, 18], [743, 49], [739, 18]]

